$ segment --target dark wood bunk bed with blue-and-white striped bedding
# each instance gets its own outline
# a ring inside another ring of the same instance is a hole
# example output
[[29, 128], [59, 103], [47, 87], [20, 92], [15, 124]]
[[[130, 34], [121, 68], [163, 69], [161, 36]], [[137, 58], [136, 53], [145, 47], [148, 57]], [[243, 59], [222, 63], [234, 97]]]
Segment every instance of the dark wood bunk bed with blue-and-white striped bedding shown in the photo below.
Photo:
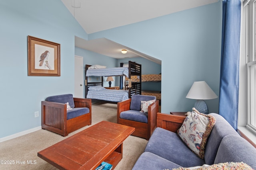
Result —
[[[102, 100], [108, 102], [121, 102], [131, 98], [133, 94], [141, 94], [141, 64], [129, 61], [128, 67], [115, 68], [92, 68], [92, 65], [85, 66], [85, 96], [86, 98]], [[101, 80], [89, 82], [88, 77], [100, 76]], [[126, 76], [128, 78], [128, 88], [126, 90], [110, 90], [103, 87], [104, 76]], [[131, 77], [140, 77], [138, 81], [132, 82]]]

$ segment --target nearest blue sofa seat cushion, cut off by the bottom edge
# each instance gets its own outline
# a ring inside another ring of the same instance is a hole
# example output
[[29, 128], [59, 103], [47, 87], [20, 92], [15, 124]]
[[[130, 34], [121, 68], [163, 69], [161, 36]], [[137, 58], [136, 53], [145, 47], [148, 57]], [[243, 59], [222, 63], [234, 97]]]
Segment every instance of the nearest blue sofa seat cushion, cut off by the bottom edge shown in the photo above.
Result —
[[169, 160], [166, 160], [156, 154], [143, 152], [134, 164], [132, 170], [164, 170], [181, 167]]

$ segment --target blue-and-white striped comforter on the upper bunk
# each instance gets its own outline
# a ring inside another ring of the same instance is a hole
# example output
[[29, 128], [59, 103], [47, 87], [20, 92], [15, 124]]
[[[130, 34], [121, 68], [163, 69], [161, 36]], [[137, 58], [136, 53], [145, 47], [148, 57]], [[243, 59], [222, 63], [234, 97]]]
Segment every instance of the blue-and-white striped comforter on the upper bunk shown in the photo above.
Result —
[[128, 67], [88, 69], [86, 76], [129, 76]]

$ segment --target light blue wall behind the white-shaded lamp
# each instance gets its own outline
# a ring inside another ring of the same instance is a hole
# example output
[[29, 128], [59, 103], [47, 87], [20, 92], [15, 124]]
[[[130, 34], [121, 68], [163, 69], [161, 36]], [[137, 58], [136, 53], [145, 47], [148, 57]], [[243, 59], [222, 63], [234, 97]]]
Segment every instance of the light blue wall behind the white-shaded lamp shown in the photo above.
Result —
[[[194, 81], [206, 81], [219, 94], [221, 3], [116, 27], [88, 35], [105, 37], [162, 60], [162, 112], [190, 111], [186, 94]], [[207, 100], [218, 113], [218, 98]]]

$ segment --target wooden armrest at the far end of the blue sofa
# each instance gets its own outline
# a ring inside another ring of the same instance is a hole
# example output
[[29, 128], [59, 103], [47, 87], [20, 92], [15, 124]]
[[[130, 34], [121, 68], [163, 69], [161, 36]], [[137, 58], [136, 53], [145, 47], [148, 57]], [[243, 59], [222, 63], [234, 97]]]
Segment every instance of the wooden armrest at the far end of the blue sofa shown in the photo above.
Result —
[[176, 133], [184, 119], [184, 116], [157, 113], [157, 127]]

